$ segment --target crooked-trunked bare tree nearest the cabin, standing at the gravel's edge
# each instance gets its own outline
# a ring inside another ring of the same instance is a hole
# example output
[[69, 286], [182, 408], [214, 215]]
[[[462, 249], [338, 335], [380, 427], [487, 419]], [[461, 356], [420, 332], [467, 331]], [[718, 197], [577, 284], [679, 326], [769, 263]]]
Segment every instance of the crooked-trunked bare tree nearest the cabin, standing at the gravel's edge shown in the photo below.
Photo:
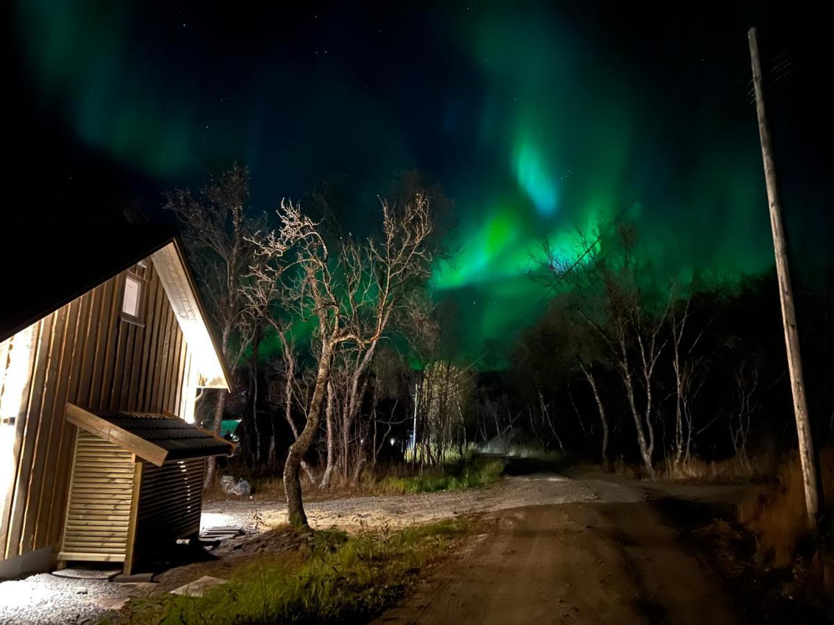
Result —
[[334, 355], [344, 344], [365, 353], [382, 338], [403, 294], [430, 274], [432, 221], [429, 202], [417, 193], [403, 206], [381, 201], [379, 238], [340, 238], [331, 245], [320, 223], [284, 202], [280, 227], [251, 238], [255, 298], [294, 311], [317, 325], [318, 363], [304, 429], [284, 465], [289, 521], [306, 527], [299, 468], [319, 430]]

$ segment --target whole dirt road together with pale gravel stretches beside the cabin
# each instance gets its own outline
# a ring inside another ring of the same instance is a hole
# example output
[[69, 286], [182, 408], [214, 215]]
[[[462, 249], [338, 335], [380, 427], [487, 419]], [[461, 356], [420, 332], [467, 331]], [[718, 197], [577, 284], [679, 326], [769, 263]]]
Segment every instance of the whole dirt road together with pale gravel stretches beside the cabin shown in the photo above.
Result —
[[[494, 488], [306, 507], [314, 527], [348, 530], [483, 515], [481, 533], [465, 551], [381, 622], [732, 622], [711, 577], [646, 501], [656, 488], [666, 492], [655, 495], [678, 498], [734, 496], [733, 487], [534, 473], [507, 477]], [[203, 513], [205, 526], [264, 530], [285, 521], [286, 504], [269, 500], [213, 502]], [[127, 597], [148, 592], [128, 586], [50, 575], [2, 582], [0, 623], [95, 622]]]

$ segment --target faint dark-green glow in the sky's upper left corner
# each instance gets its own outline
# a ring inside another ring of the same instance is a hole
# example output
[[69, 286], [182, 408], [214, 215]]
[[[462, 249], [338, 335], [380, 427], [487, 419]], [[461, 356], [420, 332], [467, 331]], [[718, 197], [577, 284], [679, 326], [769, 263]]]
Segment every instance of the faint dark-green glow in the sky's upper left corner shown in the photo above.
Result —
[[148, 67], [152, 57], [130, 46], [128, 5], [27, 0], [18, 12], [44, 99], [63, 108], [84, 143], [154, 176], [183, 173], [195, 161], [183, 102], [189, 81]]

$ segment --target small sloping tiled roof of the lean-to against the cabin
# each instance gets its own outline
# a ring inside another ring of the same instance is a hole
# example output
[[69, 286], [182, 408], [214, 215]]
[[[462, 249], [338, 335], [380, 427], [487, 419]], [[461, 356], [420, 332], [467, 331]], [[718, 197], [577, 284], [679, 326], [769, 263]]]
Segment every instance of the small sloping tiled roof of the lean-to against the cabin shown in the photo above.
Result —
[[157, 466], [170, 460], [229, 456], [235, 448], [170, 413], [89, 411], [68, 403], [67, 421]]

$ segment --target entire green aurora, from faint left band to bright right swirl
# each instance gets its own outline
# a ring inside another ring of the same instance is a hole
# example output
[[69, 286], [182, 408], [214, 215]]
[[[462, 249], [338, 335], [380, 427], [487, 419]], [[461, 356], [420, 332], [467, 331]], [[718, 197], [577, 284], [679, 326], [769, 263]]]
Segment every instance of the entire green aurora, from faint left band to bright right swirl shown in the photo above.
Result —
[[[722, 279], [771, 267], [755, 116], [743, 88], [731, 92], [737, 104], [721, 99], [723, 83], [708, 90], [720, 97], [693, 117], [681, 106], [686, 93], [550, 11], [444, 13], [430, 41], [454, 75], [437, 77], [437, 62], [424, 69], [427, 81], [445, 80], [445, 91], [406, 106], [413, 92], [383, 101], [347, 70], [296, 67], [280, 51], [269, 65], [257, 46], [244, 54], [202, 37], [196, 52], [183, 52], [174, 28], [184, 32], [196, 18], [172, 18], [157, 32], [151, 18], [136, 26], [135, 5], [95, 6], [19, 2], [24, 62], [43, 105], [58, 109], [79, 142], [160, 188], [195, 184], [206, 163], [240, 158], [252, 170], [255, 202], [269, 207], [320, 183], [317, 163], [326, 158], [328, 171], [358, 181], [349, 213], [361, 220], [392, 172], [418, 168], [440, 182], [455, 199], [457, 224], [451, 258], [431, 287], [458, 309], [465, 358], [480, 358], [485, 342], [505, 342], [535, 318], [545, 292], [524, 271], [544, 238], [576, 258], [576, 230], [605, 226], [632, 201], [626, 218], [651, 263], [684, 277], [710, 268]], [[733, 79], [744, 77], [745, 45], [740, 35]], [[314, 52], [320, 63], [318, 44]], [[239, 71], [242, 54], [251, 71]], [[233, 82], [218, 87], [223, 81]], [[426, 147], [425, 136], [435, 144]], [[279, 148], [264, 148], [264, 137]], [[290, 156], [276, 156], [283, 152]]]

